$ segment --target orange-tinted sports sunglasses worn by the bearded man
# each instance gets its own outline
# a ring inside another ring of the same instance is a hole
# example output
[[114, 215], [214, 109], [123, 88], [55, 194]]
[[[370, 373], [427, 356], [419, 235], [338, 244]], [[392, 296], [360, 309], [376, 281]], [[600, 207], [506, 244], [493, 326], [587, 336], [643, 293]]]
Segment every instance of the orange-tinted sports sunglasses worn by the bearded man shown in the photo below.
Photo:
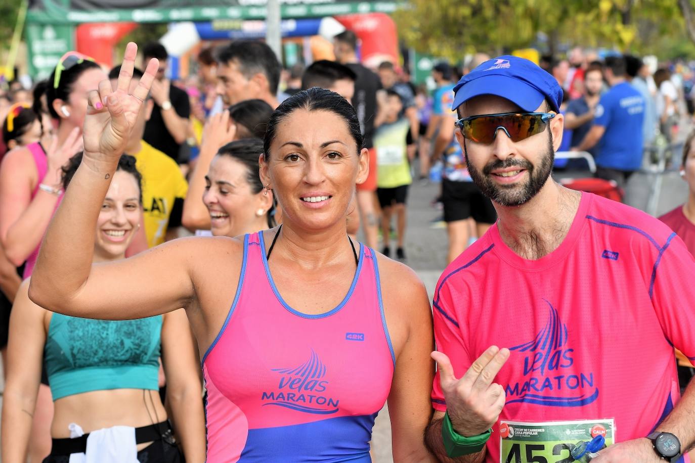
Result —
[[512, 142], [521, 142], [546, 130], [553, 117], [553, 112], [501, 112], [459, 119], [456, 126], [464, 137], [477, 143], [491, 144], [500, 128]]

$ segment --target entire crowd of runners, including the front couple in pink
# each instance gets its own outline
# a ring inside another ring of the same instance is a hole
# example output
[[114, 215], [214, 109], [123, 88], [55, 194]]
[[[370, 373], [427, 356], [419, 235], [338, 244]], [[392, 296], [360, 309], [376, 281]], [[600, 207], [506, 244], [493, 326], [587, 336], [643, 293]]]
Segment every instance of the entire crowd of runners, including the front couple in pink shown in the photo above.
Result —
[[[3, 462], [370, 462], [387, 402], [395, 462], [689, 462], [695, 132], [660, 219], [551, 175], [589, 151], [622, 199], [684, 79], [476, 55], [428, 92], [358, 49], [236, 41], [176, 85], [130, 43], [0, 96]], [[428, 296], [407, 197], [440, 180]]]

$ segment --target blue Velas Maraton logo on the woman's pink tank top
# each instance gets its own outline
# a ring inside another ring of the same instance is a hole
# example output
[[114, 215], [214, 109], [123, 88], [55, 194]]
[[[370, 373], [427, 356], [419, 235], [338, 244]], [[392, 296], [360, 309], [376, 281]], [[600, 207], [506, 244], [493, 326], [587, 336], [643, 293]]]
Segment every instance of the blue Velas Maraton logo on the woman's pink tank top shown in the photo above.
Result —
[[280, 378], [275, 391], [261, 393], [263, 406], [276, 405], [297, 412], [333, 414], [338, 399], [327, 395], [326, 366], [311, 349], [309, 360], [294, 368], [274, 368]]

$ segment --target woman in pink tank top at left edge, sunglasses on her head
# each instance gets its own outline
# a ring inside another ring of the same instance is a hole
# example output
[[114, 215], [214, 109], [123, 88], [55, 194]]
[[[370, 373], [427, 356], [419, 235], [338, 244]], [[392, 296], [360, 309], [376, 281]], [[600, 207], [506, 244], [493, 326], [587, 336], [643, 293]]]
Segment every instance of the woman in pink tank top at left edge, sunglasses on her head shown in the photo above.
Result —
[[[33, 92], [33, 107], [17, 115], [33, 117], [42, 126], [43, 135], [49, 135], [52, 121], [43, 121], [48, 111], [50, 118], [47, 119], [58, 121], [53, 140], [50, 136], [42, 137], [41, 133], [35, 133], [33, 138], [22, 136], [19, 138], [22, 143], [4, 155], [0, 163], [0, 240], [10, 262], [19, 266], [26, 261], [24, 278], [31, 276], [41, 239], [62, 196], [60, 167], [82, 149], [79, 135], [87, 92], [106, 78], [94, 61], [65, 59], [61, 62], [63, 70], [58, 78], [54, 71], [47, 81], [38, 83]], [[44, 96], [47, 108], [42, 108]], [[38, 121], [39, 117], [42, 121]], [[8, 128], [7, 123], [3, 129]], [[39, 144], [40, 138], [46, 142], [43, 146]], [[48, 150], [44, 151], [44, 147]], [[40, 461], [51, 451], [49, 425], [52, 416], [51, 392], [43, 384], [29, 443], [31, 461]]]

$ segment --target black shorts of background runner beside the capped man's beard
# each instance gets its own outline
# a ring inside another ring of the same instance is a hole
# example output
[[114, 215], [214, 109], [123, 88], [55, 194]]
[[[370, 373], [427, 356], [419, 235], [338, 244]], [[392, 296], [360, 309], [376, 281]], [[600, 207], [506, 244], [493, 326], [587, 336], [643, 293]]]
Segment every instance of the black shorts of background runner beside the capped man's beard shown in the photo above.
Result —
[[473, 182], [454, 182], [442, 178], [441, 203], [444, 206], [444, 221], [454, 222], [473, 217], [478, 224], [494, 224], [497, 212], [480, 188]]

